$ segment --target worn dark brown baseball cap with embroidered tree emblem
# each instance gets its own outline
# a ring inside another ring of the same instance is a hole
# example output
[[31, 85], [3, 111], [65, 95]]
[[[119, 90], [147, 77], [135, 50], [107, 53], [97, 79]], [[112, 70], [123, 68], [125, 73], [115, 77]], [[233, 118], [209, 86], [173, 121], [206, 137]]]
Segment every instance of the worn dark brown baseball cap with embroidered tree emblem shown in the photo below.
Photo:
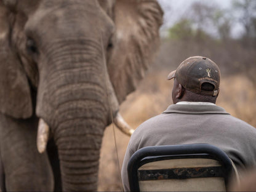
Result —
[[[168, 80], [176, 78], [177, 81], [196, 94], [215, 96], [220, 90], [220, 69], [207, 57], [194, 56], [184, 60], [177, 70], [168, 75]], [[214, 86], [213, 90], [202, 90], [205, 82]]]

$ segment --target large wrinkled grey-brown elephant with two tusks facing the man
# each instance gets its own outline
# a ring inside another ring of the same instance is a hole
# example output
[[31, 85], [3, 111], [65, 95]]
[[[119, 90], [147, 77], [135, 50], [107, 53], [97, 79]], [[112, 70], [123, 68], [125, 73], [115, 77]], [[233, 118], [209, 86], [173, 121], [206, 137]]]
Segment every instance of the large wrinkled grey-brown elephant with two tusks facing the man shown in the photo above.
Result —
[[0, 0], [0, 191], [96, 191], [105, 127], [159, 47], [156, 0]]

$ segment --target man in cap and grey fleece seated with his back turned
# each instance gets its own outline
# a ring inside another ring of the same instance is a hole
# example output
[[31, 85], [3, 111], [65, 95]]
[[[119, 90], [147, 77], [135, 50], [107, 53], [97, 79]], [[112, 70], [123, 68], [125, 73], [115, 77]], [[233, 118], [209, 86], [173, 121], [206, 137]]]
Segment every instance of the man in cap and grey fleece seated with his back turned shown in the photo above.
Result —
[[215, 105], [220, 70], [212, 60], [187, 58], [167, 79], [174, 79], [174, 105], [143, 122], [132, 134], [122, 165], [126, 191], [128, 161], [145, 146], [209, 143], [225, 151], [238, 169], [256, 165], [256, 129]]

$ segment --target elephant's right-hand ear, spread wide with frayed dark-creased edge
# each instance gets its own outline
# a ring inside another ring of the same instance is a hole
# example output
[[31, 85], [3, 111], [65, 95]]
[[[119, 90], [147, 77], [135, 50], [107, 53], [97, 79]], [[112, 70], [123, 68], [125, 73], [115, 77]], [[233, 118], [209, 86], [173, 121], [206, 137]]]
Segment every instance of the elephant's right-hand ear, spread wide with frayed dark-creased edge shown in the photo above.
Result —
[[157, 1], [116, 1], [108, 73], [119, 103], [135, 90], [158, 50], [162, 15]]

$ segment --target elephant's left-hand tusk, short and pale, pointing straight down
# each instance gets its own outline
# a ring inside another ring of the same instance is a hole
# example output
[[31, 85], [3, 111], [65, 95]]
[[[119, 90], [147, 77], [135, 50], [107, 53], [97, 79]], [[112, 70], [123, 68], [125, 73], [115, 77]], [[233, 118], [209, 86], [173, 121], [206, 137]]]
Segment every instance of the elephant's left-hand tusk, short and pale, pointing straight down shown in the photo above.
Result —
[[36, 145], [38, 146], [39, 153], [44, 153], [49, 139], [49, 126], [43, 119], [39, 119], [38, 123], [38, 137]]

